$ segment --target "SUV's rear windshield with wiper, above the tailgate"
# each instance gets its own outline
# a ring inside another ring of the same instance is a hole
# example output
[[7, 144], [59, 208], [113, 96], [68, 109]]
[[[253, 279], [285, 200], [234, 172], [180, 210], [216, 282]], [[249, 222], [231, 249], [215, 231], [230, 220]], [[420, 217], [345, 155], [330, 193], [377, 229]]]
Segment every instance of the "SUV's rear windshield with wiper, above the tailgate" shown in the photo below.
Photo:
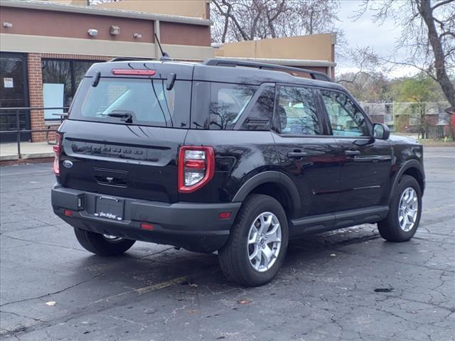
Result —
[[89, 77], [77, 91], [70, 119], [188, 128], [190, 103], [190, 81], [176, 80], [167, 90], [166, 80], [101, 78], [93, 87]]

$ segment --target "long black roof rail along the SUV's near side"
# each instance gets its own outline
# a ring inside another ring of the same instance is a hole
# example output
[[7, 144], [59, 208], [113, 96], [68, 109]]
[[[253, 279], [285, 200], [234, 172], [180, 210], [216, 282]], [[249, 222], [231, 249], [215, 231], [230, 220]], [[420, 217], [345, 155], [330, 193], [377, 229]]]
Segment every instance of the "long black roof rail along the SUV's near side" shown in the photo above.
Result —
[[211, 58], [211, 59], [204, 60], [203, 65], [230, 66], [230, 67], [237, 67], [237, 66], [257, 67], [260, 70], [287, 71], [288, 73], [289, 72], [304, 72], [304, 73], [308, 73], [310, 75], [310, 77], [314, 80], [323, 80], [325, 82], [333, 82], [333, 80], [331, 80], [331, 77], [328, 77], [328, 75], [326, 75], [323, 72], [308, 70], [308, 69], [300, 69], [299, 67], [283, 66], [283, 65], [269, 64], [269, 63], [250, 62], [247, 60]]

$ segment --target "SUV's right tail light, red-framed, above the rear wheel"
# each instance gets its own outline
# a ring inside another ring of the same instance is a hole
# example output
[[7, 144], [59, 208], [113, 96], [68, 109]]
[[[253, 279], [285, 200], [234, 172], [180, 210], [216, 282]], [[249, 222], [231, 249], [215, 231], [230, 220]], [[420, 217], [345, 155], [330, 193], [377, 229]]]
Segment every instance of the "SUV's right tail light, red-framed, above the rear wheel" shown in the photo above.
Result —
[[215, 152], [212, 147], [183, 146], [178, 152], [178, 191], [192, 193], [213, 178]]

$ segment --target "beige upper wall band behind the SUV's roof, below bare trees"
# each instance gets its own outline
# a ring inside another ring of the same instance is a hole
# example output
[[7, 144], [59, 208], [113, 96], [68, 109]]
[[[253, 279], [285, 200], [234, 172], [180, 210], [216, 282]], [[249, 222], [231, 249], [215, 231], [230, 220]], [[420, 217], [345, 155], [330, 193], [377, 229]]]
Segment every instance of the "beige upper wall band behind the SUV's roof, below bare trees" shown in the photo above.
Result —
[[327, 60], [333, 62], [335, 34], [314, 34], [226, 43], [215, 51], [217, 57]]

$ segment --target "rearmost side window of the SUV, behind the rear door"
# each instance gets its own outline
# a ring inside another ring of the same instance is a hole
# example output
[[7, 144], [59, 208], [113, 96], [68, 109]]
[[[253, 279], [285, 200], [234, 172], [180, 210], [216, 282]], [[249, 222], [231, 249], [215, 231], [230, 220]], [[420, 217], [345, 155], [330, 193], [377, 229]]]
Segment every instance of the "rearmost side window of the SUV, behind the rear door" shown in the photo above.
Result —
[[256, 90], [251, 85], [211, 83], [210, 129], [233, 129]]

